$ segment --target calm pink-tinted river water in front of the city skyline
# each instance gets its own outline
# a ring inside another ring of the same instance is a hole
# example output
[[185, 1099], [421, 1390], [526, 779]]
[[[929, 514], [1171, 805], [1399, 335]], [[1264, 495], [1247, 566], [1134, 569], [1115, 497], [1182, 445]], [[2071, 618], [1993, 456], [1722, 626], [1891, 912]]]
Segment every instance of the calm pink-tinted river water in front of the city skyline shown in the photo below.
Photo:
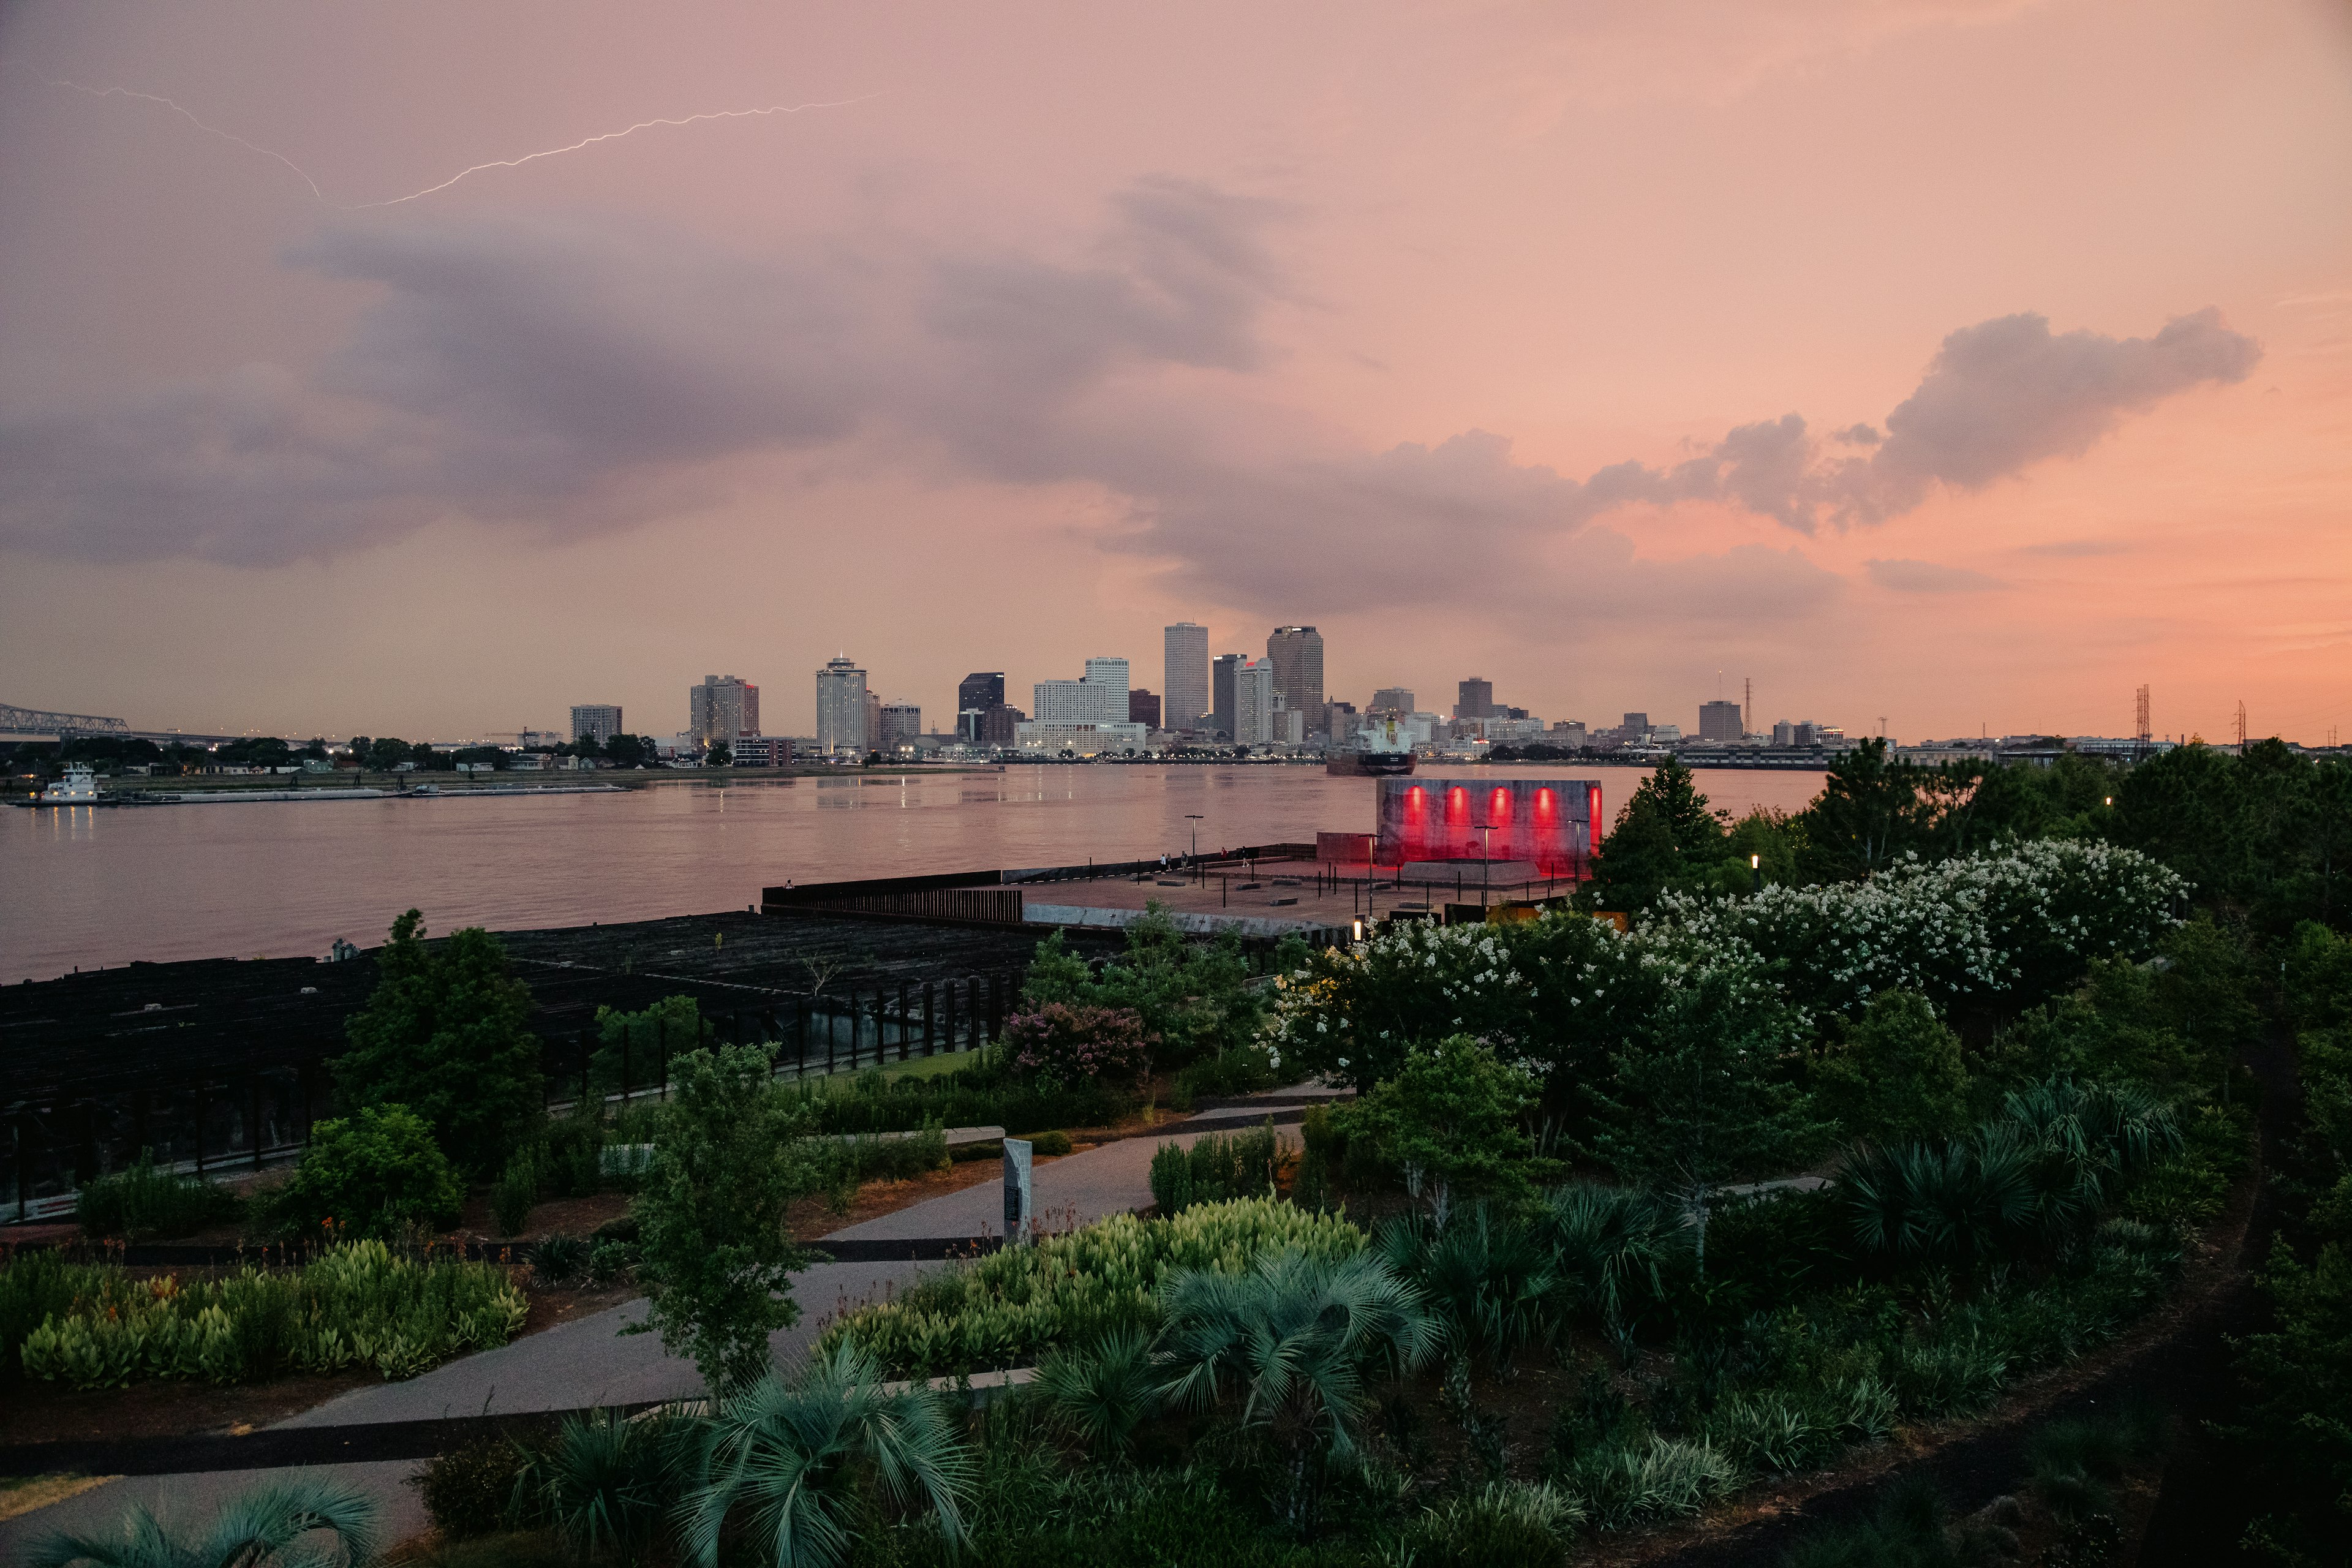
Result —
[[[1435, 769], [1432, 769], [1435, 771]], [[1609, 813], [1637, 769], [1597, 778]], [[1700, 771], [1733, 813], [1797, 809], [1820, 773]], [[1007, 766], [621, 795], [0, 811], [0, 980], [129, 959], [289, 957], [435, 931], [706, 914], [844, 877], [1070, 865], [1371, 832], [1374, 780], [1289, 766]], [[1190, 823], [1200, 813], [1204, 820]]]

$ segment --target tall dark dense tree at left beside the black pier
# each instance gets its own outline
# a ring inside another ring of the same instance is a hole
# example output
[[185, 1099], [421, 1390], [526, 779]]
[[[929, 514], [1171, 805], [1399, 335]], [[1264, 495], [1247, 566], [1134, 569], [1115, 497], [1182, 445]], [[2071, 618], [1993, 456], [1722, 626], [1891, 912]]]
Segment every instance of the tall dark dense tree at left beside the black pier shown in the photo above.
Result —
[[412, 1107], [459, 1168], [496, 1171], [541, 1114], [532, 992], [489, 931], [433, 945], [423, 933], [416, 910], [393, 922], [376, 992], [343, 1025], [350, 1051], [329, 1063], [334, 1081], [346, 1105]]

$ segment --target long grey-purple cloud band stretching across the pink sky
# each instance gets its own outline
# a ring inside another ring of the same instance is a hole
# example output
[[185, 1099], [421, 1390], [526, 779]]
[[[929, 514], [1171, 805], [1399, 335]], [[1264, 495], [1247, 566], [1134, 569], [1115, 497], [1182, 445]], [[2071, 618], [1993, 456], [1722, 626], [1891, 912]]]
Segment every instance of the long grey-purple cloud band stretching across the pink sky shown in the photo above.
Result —
[[1101, 487], [1129, 508], [1120, 548], [1228, 602], [1282, 599], [1308, 574], [1369, 599], [1771, 618], [1811, 614], [1839, 581], [1788, 550], [1642, 562], [1590, 524], [1689, 501], [1802, 534], [1879, 522], [1936, 487], [2079, 454], [2260, 357], [2211, 310], [2152, 339], [2013, 315], [1950, 334], [1884, 437], [1830, 437], [1849, 451], [1797, 414], [1583, 480], [1484, 430], [1343, 451], [1244, 430], [1218, 390], [1268, 364], [1263, 317], [1289, 289], [1268, 247], [1279, 219], [1155, 179], [1120, 193], [1073, 261], [906, 244], [753, 261], [649, 226], [329, 228], [287, 263], [372, 301], [320, 364], [0, 411], [0, 543], [268, 567], [440, 517], [572, 536], [659, 515], [717, 458], [840, 449]]

